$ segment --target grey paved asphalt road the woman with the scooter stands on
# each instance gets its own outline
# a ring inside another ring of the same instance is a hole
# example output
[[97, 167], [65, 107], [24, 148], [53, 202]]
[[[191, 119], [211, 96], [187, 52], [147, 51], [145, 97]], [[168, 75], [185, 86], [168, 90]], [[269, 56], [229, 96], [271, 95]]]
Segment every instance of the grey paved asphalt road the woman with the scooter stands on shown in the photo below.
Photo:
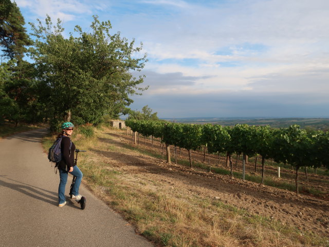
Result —
[[[0, 246], [154, 246], [81, 185], [81, 210], [58, 207], [59, 174], [43, 152], [45, 129], [0, 140]], [[69, 192], [71, 176], [66, 184]]]

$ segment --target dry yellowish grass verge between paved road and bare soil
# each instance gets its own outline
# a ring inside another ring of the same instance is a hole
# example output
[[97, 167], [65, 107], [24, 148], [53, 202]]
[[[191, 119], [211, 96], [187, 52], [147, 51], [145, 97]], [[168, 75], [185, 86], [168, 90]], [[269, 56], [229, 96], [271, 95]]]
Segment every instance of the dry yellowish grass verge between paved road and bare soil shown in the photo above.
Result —
[[[108, 205], [134, 224], [137, 231], [159, 246], [329, 246], [327, 239], [302, 233], [275, 220], [252, 215], [220, 200], [186, 193], [145, 177], [126, 172], [100, 152], [140, 157], [136, 151], [111, 144], [113, 138], [96, 130], [96, 137], [72, 137], [79, 149], [84, 183]], [[47, 146], [47, 145], [46, 145]], [[49, 146], [49, 139], [48, 139]], [[97, 153], [95, 152], [97, 149]]]

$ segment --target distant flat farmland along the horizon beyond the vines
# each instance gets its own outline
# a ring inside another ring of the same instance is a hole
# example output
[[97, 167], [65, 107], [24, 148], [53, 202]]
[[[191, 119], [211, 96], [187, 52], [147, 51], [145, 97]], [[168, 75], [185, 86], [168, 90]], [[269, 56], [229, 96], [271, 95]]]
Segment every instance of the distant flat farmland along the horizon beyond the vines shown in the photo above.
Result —
[[329, 130], [329, 118], [175, 118], [168, 121], [183, 123], [216, 123], [222, 126], [234, 126], [237, 123], [247, 125], [269, 125], [272, 128], [286, 128], [290, 125], [299, 125], [303, 129]]

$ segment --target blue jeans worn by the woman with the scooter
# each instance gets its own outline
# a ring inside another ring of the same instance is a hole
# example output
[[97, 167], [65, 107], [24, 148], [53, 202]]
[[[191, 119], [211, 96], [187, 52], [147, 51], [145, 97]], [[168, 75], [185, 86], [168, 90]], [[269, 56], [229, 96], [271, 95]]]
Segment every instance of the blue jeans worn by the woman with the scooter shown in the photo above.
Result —
[[[60, 185], [58, 186], [58, 203], [65, 202], [65, 185], [67, 182], [68, 172], [62, 169], [58, 169], [60, 172]], [[72, 175], [76, 176], [76, 182], [72, 188], [72, 195], [78, 196], [79, 195], [79, 187], [82, 180], [82, 172], [80, 171], [78, 166], [73, 167], [73, 171], [70, 172]]]

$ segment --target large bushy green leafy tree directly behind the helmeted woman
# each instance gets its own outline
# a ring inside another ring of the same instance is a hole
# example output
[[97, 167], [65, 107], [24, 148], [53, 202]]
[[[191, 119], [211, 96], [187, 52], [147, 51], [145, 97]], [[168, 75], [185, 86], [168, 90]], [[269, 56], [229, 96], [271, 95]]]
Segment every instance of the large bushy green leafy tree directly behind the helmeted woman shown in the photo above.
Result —
[[49, 92], [53, 127], [63, 119], [79, 125], [97, 123], [105, 114], [117, 117], [133, 102], [130, 95], [144, 90], [137, 86], [143, 76], [131, 74], [147, 61], [146, 55], [136, 58], [142, 47], [120, 33], [111, 34], [109, 21], [100, 22], [94, 16], [90, 32], [76, 26], [69, 38], [63, 36], [60, 20], [56, 26], [49, 16], [45, 26], [38, 22], [31, 24], [36, 37], [32, 58]]

